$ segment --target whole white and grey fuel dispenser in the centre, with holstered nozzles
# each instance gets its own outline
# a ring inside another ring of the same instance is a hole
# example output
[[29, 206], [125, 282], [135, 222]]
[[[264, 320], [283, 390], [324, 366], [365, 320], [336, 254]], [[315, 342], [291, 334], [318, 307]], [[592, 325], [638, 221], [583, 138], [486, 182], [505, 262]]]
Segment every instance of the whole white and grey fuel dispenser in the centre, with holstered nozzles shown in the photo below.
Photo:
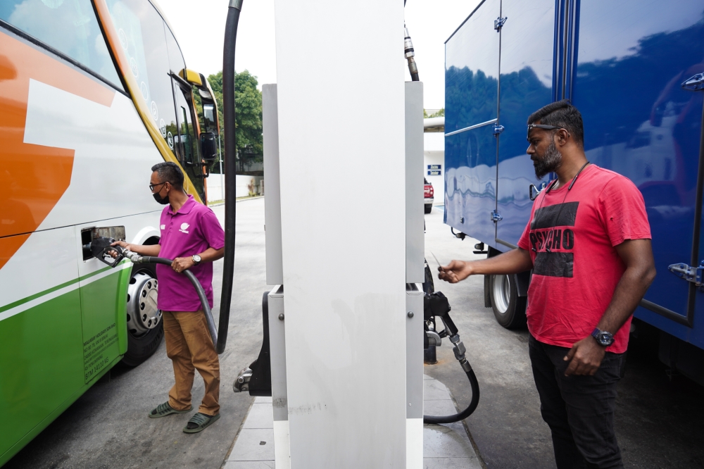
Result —
[[[277, 469], [421, 468], [424, 421], [466, 418], [479, 387], [446, 297], [422, 289], [423, 84], [403, 6], [275, 0], [275, 14], [277, 84], [262, 87], [272, 289], [260, 354], [233, 389], [272, 397]], [[354, 25], [344, 50], [341, 24]], [[353, 191], [372, 180], [375, 205]], [[445, 337], [472, 402], [424, 416], [423, 351]]]

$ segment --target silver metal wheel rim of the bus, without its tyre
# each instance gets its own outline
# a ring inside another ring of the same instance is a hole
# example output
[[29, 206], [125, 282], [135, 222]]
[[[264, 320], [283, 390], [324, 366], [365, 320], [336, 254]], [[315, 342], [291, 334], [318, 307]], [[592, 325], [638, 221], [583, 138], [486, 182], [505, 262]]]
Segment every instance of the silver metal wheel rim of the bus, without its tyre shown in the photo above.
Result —
[[140, 336], [155, 328], [161, 321], [156, 307], [158, 280], [148, 273], [138, 272], [127, 287], [127, 330]]

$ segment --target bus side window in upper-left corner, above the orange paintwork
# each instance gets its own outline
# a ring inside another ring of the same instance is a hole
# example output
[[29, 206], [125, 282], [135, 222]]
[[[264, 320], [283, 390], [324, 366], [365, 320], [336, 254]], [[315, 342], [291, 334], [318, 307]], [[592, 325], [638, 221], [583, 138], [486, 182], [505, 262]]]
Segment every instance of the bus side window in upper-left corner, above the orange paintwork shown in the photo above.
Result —
[[84, 65], [122, 90], [90, 0], [0, 1], [0, 20]]

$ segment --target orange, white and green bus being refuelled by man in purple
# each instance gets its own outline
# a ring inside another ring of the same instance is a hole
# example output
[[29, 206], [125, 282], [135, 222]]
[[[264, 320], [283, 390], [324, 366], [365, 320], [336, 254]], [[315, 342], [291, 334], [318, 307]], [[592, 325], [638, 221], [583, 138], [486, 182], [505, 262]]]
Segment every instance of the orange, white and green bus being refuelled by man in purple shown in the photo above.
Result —
[[0, 466], [113, 365], [156, 351], [155, 270], [86, 246], [158, 242], [160, 161], [206, 203], [219, 130], [155, 2], [0, 2]]

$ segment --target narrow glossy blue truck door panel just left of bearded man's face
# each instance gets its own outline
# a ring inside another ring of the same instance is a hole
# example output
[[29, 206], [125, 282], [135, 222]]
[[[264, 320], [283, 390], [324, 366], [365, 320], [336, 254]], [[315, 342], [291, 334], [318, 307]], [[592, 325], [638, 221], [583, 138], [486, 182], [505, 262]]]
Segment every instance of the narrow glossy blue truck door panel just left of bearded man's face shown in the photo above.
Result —
[[502, 0], [501, 15], [507, 19], [500, 32], [503, 131], [498, 137], [496, 210], [502, 219], [496, 222], [496, 247], [506, 251], [518, 244], [530, 218], [529, 185], [541, 187], [526, 154], [526, 120], [553, 101], [553, 44], [558, 42], [554, 0]]

